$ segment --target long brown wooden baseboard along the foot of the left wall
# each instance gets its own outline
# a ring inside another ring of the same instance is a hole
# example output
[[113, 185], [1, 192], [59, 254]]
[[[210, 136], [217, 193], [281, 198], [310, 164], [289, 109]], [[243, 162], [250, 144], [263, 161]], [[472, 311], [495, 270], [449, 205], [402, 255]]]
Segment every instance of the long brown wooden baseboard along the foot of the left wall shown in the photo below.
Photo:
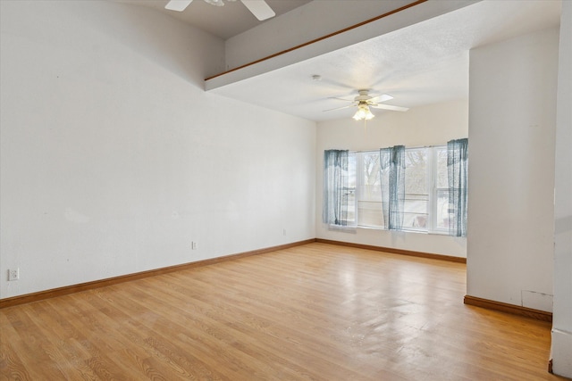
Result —
[[189, 263], [183, 263], [180, 265], [169, 266], [161, 269], [151, 269], [147, 271], [141, 271], [133, 274], [122, 275], [119, 277], [108, 277], [105, 279], [95, 280], [92, 282], [80, 283], [78, 285], [63, 286], [58, 288], [52, 288], [50, 290], [39, 291], [38, 293], [23, 294], [19, 296], [13, 296], [11, 298], [0, 299], [0, 309], [6, 307], [12, 307], [14, 305], [24, 304], [28, 302], [37, 302], [44, 299], [54, 298], [55, 296], [63, 296], [73, 293], [79, 293], [80, 291], [92, 290], [99, 287], [117, 285], [119, 283], [130, 282], [131, 280], [137, 280], [144, 277], [153, 277], [156, 275], [168, 274], [174, 271], [181, 271], [183, 269], [193, 269], [200, 266], [208, 266], [214, 263], [220, 263], [223, 261], [232, 261], [239, 258], [248, 257], [251, 255], [271, 253], [277, 250], [288, 249], [290, 247], [299, 246], [302, 244], [311, 244], [315, 242], [315, 238], [307, 239], [304, 241], [293, 242], [290, 244], [280, 244], [277, 246], [266, 247], [264, 249], [252, 250], [250, 252], [237, 253], [231, 255], [225, 255], [223, 257], [217, 257], [209, 260], [195, 261]]

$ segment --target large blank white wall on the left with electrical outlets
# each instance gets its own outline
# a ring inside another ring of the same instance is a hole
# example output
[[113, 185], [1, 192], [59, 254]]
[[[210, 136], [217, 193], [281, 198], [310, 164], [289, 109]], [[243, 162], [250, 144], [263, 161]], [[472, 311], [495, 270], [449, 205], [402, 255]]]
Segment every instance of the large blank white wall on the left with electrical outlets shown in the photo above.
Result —
[[0, 5], [0, 297], [315, 237], [315, 123], [206, 94], [222, 40], [146, 7]]

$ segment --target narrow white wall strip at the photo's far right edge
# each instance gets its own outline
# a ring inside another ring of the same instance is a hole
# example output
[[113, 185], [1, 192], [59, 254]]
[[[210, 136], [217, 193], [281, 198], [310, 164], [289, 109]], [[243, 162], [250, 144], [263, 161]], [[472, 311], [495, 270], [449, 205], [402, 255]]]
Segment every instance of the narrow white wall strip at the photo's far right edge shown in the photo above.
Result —
[[554, 204], [552, 368], [572, 378], [572, 2], [562, 2]]

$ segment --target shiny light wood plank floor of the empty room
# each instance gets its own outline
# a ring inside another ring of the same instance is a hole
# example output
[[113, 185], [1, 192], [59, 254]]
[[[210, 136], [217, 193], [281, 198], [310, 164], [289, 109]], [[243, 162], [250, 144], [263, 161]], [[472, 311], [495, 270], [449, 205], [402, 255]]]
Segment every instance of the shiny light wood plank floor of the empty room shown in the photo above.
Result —
[[0, 379], [557, 380], [465, 265], [307, 244], [0, 310]]

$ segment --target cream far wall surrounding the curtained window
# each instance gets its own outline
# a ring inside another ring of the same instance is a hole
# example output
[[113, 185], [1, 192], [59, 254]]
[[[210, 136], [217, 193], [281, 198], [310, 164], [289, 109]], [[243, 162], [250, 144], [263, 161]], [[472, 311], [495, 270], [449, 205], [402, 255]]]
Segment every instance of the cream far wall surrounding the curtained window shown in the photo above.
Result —
[[[316, 234], [318, 238], [391, 247], [422, 253], [467, 256], [467, 239], [413, 232], [357, 228], [357, 233], [329, 230], [322, 223], [324, 150], [374, 150], [392, 145], [443, 145], [467, 137], [468, 103], [458, 100], [412, 108], [408, 112], [381, 112], [367, 122], [332, 120], [318, 123], [316, 162]], [[469, 152], [470, 152], [469, 141]]]

